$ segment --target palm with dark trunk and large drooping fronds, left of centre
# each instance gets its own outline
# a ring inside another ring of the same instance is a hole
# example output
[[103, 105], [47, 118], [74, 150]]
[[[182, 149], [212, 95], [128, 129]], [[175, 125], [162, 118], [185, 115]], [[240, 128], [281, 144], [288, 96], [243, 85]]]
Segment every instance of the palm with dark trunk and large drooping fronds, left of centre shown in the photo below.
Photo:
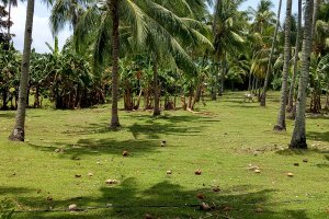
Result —
[[[110, 61], [113, 77], [112, 128], [120, 126], [116, 60], [120, 54], [124, 53], [123, 48], [129, 47], [133, 51], [146, 49], [156, 54], [164, 51], [173, 57], [179, 68], [195, 72], [196, 68], [183, 49], [182, 43], [185, 42], [184, 47], [189, 49], [198, 42], [211, 44], [206, 37], [193, 28], [193, 26], [200, 26], [200, 22], [178, 16], [174, 10], [163, 7], [166, 2], [168, 3], [166, 0], [109, 0], [106, 4], [90, 7], [78, 23], [76, 42], [81, 44], [89, 39], [89, 43], [94, 46], [94, 60], [104, 61], [109, 48], [112, 49], [112, 60]], [[124, 11], [124, 13], [117, 11]], [[112, 34], [109, 28], [112, 30]], [[90, 35], [93, 37], [88, 38]]]

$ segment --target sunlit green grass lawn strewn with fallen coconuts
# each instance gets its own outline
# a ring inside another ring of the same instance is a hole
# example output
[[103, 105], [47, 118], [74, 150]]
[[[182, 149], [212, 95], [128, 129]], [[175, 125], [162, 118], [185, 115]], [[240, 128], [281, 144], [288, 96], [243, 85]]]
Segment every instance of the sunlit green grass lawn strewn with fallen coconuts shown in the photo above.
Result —
[[[15, 204], [15, 218], [328, 218], [329, 118], [308, 118], [309, 150], [291, 151], [293, 122], [287, 132], [272, 131], [279, 93], [270, 93], [265, 108], [241, 100], [242, 93], [227, 93], [198, 105], [201, 114], [163, 112], [159, 118], [120, 112], [120, 131], [106, 128], [109, 105], [29, 110], [24, 143], [7, 140], [14, 113], [0, 112], [0, 200]], [[131, 154], [124, 158], [123, 150]], [[107, 186], [107, 178], [120, 183]], [[216, 208], [195, 207], [198, 193]], [[97, 209], [65, 211], [70, 204]]]

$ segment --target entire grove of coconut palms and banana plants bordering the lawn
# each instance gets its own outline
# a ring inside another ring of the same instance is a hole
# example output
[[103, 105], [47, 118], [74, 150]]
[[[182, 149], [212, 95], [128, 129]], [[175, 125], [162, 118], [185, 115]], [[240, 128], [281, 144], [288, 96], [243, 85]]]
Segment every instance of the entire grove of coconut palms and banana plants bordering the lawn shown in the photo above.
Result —
[[[280, 0], [276, 14], [271, 0], [246, 11], [242, 0], [44, 0], [55, 36], [47, 54], [31, 49], [34, 0], [23, 54], [10, 33], [18, 2], [1, 2], [1, 108], [16, 110], [11, 140], [24, 141], [26, 107], [47, 102], [72, 110], [110, 101], [110, 128], [117, 129], [121, 99], [125, 111], [158, 116], [161, 108], [193, 111], [225, 89], [248, 90], [265, 106], [273, 89], [281, 90], [274, 129], [295, 119], [290, 146], [307, 148], [305, 113], [329, 108], [328, 0]], [[72, 36], [59, 48], [56, 35], [66, 25]]]

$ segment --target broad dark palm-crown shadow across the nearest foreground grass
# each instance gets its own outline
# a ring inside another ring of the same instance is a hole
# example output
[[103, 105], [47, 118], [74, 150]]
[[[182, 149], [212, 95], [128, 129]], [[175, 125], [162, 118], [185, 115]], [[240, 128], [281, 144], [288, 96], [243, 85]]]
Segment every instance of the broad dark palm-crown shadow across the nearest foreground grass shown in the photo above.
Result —
[[[230, 191], [237, 191], [231, 187]], [[284, 206], [284, 203], [271, 203], [272, 189], [251, 192], [248, 185], [239, 193], [214, 193], [212, 188], [186, 191], [181, 185], [172, 184], [170, 180], [162, 181], [154, 186], [140, 191], [136, 178], [124, 180], [120, 185], [101, 187], [100, 197], [73, 197], [65, 200], [53, 200], [46, 203], [39, 198], [20, 198], [25, 208], [33, 203], [37, 209], [49, 209], [46, 212], [19, 212], [16, 216], [25, 218], [145, 218], [146, 214], [152, 218], [303, 218], [306, 219], [304, 210], [288, 210], [283, 212], [272, 211], [276, 205]], [[204, 194], [205, 198], [198, 200], [196, 195]], [[64, 211], [68, 205], [78, 205], [87, 211], [68, 212]], [[200, 209], [201, 203], [208, 204], [212, 209], [205, 211]], [[110, 208], [105, 206], [111, 204]], [[92, 209], [92, 207], [94, 209]], [[258, 210], [261, 208], [261, 210]], [[56, 210], [63, 210], [57, 211]]]

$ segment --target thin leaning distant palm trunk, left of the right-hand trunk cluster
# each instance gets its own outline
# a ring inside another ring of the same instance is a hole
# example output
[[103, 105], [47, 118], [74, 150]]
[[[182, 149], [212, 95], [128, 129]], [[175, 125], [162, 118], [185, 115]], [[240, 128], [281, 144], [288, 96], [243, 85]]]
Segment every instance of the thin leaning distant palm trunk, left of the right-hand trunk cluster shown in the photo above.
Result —
[[281, 5], [282, 5], [282, 0], [280, 0], [280, 2], [279, 2], [276, 25], [275, 25], [274, 36], [273, 36], [273, 39], [272, 39], [272, 48], [271, 48], [270, 58], [269, 58], [269, 62], [268, 62], [268, 69], [266, 69], [266, 74], [265, 74], [263, 92], [262, 92], [262, 95], [261, 95], [261, 102], [260, 102], [261, 106], [266, 105], [266, 90], [268, 90], [268, 83], [269, 83], [269, 78], [270, 78], [270, 70], [271, 70], [274, 48], [275, 48], [275, 45], [276, 45], [276, 35], [277, 35], [279, 25], [280, 25]]

